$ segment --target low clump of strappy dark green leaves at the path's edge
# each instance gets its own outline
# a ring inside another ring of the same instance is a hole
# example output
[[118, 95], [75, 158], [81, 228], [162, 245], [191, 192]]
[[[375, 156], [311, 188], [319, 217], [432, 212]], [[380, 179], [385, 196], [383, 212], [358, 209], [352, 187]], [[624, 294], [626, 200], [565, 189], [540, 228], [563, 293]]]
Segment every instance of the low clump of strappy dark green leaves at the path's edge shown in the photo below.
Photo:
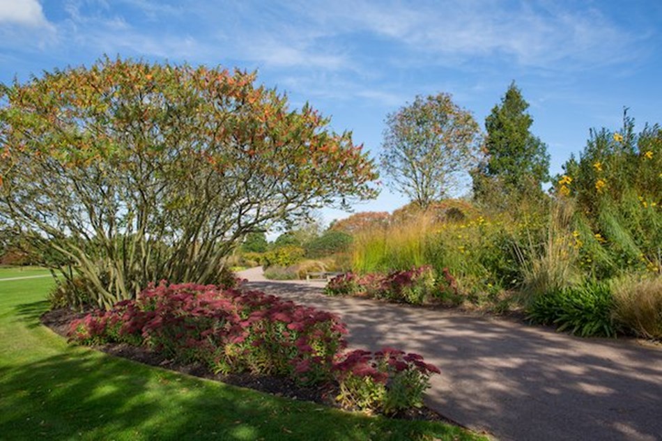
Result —
[[610, 285], [592, 281], [537, 295], [528, 307], [528, 319], [579, 336], [616, 336], [613, 309]]

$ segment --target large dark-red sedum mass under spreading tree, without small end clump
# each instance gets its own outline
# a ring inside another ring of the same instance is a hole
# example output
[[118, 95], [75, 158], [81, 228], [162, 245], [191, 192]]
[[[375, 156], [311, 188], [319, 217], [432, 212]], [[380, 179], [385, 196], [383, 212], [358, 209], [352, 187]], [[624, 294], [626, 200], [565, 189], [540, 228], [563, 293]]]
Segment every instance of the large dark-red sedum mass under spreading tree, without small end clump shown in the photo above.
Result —
[[213, 285], [151, 286], [71, 324], [81, 343], [127, 342], [215, 372], [249, 371], [303, 382], [330, 378], [346, 346], [337, 316], [257, 291]]

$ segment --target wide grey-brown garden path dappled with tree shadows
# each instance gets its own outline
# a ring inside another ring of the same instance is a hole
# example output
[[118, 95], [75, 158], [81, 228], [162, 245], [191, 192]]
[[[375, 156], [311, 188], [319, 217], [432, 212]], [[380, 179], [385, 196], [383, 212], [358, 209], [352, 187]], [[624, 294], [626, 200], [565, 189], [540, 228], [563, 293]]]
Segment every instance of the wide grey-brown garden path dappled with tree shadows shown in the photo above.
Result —
[[323, 282], [249, 288], [339, 314], [351, 348], [393, 346], [442, 373], [426, 403], [498, 440], [662, 440], [662, 348], [580, 339], [545, 327], [457, 311], [326, 297]]

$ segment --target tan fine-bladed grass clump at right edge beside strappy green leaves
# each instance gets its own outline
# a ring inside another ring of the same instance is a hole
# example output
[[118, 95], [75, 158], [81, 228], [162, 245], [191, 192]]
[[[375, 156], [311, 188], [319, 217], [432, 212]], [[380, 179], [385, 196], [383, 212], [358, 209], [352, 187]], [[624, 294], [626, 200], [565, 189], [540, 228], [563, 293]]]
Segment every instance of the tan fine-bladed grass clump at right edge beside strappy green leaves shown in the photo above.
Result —
[[662, 339], [662, 277], [626, 277], [614, 284], [614, 317], [647, 339]]

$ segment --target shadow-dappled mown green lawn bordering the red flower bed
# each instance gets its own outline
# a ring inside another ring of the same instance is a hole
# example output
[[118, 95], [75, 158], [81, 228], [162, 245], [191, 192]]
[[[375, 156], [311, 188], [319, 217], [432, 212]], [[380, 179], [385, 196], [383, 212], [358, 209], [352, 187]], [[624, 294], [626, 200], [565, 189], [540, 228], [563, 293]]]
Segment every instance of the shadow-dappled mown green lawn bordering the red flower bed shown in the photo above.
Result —
[[[7, 274], [13, 270], [0, 269], [0, 279]], [[454, 426], [350, 414], [68, 346], [39, 323], [52, 283], [0, 281], [3, 440], [484, 440]]]

